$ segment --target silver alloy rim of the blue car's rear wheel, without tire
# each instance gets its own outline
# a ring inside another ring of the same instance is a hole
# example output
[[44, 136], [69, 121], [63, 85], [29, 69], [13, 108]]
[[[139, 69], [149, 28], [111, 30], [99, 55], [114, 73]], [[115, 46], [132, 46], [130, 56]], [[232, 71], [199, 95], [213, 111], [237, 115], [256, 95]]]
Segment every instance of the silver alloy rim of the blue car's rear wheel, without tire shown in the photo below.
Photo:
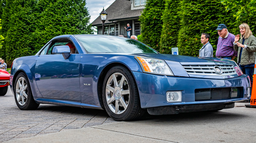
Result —
[[20, 77], [16, 83], [16, 99], [20, 105], [24, 105], [28, 99], [27, 81], [24, 77]]

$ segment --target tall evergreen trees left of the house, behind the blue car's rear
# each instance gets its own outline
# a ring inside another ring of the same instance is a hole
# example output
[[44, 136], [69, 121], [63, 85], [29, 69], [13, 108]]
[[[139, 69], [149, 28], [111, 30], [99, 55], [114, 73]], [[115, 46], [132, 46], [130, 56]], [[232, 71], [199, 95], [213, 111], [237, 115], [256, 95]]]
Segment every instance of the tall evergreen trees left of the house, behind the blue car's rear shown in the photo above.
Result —
[[92, 34], [85, 0], [2, 0], [0, 57], [13, 59], [38, 52], [49, 40], [65, 34]]

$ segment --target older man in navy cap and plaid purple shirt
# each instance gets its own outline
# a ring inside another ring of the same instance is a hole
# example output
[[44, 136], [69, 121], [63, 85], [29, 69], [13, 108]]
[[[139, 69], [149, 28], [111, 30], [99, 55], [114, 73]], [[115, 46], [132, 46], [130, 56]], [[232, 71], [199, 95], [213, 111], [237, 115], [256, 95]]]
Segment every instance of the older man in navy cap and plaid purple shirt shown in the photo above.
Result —
[[217, 44], [216, 57], [233, 60], [237, 55], [233, 48], [235, 35], [227, 31], [225, 24], [219, 24], [216, 30], [218, 30], [220, 36]]

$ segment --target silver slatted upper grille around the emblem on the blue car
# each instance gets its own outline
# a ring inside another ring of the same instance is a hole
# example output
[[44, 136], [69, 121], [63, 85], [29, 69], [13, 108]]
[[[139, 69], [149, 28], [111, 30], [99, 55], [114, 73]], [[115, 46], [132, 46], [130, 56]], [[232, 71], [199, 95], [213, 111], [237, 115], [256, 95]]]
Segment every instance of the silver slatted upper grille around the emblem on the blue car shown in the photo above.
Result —
[[[182, 66], [187, 71], [188, 74], [216, 75], [216, 76], [236, 74], [236, 70], [232, 65], [182, 65]], [[223, 73], [217, 74], [216, 71], [214, 71], [214, 66], [220, 67]]]

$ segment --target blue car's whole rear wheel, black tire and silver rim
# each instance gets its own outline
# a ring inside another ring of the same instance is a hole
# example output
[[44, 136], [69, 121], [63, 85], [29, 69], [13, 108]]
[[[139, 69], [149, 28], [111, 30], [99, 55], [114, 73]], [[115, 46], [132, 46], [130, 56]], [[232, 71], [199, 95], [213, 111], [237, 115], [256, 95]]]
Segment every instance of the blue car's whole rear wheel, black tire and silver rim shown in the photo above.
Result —
[[18, 74], [13, 89], [15, 102], [21, 110], [34, 110], [39, 106], [34, 101], [28, 77], [24, 72]]

